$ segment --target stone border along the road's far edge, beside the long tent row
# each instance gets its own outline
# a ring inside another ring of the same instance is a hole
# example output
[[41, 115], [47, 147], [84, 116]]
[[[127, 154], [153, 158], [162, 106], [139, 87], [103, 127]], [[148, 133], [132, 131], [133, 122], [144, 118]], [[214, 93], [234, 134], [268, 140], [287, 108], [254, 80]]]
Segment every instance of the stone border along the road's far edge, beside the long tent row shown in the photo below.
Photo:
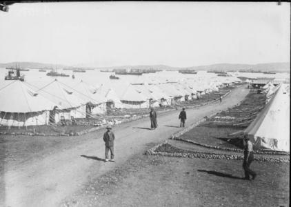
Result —
[[[221, 97], [224, 98], [227, 95], [230, 94], [232, 90], [226, 92], [224, 95], [222, 95]], [[205, 106], [209, 103], [214, 103], [215, 101], [219, 101], [219, 98], [214, 99], [212, 101], [207, 101], [205, 103], [200, 103], [200, 104], [196, 104], [194, 106], [187, 106], [186, 108], [197, 108], [200, 106]], [[157, 111], [158, 114], [164, 113], [164, 112], [170, 112], [170, 111], [174, 111], [177, 110], [176, 108], [171, 108], [168, 110], [161, 110], [161, 111]], [[137, 117], [131, 117], [130, 119], [126, 119], [125, 121], [121, 121], [122, 123], [126, 123], [126, 122], [130, 122], [130, 121], [135, 121], [137, 119], [142, 119], [144, 117], [148, 117], [149, 115], [141, 115], [141, 116], [137, 116]], [[26, 136], [43, 136], [43, 137], [49, 137], [49, 136], [65, 136], [65, 137], [69, 137], [69, 136], [80, 136], [80, 135], [85, 135], [89, 132], [94, 132], [97, 131], [99, 129], [102, 128], [106, 128], [106, 126], [98, 126], [98, 127], [92, 127], [86, 130], [81, 130], [80, 132], [74, 132], [74, 133], [59, 133], [59, 134], [45, 134], [45, 133], [33, 133], [33, 132], [0, 132], [0, 135], [26, 135]]]

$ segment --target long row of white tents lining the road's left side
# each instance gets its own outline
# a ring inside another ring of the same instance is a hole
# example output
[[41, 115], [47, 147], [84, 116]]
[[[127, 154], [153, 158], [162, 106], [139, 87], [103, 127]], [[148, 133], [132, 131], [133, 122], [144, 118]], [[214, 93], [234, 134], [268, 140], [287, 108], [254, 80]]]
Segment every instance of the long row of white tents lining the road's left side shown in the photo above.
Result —
[[0, 125], [43, 125], [104, 114], [108, 108], [166, 106], [196, 99], [231, 83], [190, 79], [175, 83], [117, 82], [92, 86], [84, 81], [70, 84], [57, 79], [48, 83], [6, 81], [0, 87]]

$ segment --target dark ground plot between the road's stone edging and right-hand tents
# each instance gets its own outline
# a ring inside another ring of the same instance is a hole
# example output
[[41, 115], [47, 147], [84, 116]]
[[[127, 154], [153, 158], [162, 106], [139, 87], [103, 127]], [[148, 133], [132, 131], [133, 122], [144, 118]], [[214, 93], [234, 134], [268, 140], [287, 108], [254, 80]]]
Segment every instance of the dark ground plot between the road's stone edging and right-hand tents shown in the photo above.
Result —
[[265, 106], [265, 95], [250, 91], [245, 99], [228, 110], [219, 112], [181, 136], [201, 144], [225, 148], [243, 148], [243, 141], [230, 134], [244, 130]]

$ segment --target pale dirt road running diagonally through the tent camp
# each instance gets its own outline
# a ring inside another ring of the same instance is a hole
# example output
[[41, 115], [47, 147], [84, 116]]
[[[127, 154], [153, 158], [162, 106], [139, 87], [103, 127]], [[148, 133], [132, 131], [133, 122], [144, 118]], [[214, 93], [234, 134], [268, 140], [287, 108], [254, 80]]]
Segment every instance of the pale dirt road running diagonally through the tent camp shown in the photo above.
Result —
[[[193, 123], [206, 115], [236, 105], [248, 94], [246, 88], [236, 88], [221, 103], [187, 110], [186, 124]], [[103, 131], [92, 132], [89, 141], [74, 148], [64, 148], [54, 155], [40, 157], [37, 161], [16, 170], [9, 169], [4, 175], [6, 182], [6, 206], [57, 206], [59, 202], [81, 188], [90, 179], [123, 164], [137, 153], [142, 153], [147, 144], [168, 139], [178, 128], [179, 111], [168, 112], [158, 117], [159, 128], [149, 130], [148, 118], [114, 127], [115, 163], [96, 161], [104, 157], [104, 144], [100, 139]], [[86, 155], [93, 159], [81, 157]]]

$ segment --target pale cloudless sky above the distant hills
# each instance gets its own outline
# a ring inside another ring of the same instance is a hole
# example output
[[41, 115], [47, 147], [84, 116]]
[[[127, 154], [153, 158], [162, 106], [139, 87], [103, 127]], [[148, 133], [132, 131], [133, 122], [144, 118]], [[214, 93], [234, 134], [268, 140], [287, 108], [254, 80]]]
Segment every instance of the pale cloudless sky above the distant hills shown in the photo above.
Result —
[[203, 66], [290, 61], [290, 3], [15, 3], [0, 63]]

